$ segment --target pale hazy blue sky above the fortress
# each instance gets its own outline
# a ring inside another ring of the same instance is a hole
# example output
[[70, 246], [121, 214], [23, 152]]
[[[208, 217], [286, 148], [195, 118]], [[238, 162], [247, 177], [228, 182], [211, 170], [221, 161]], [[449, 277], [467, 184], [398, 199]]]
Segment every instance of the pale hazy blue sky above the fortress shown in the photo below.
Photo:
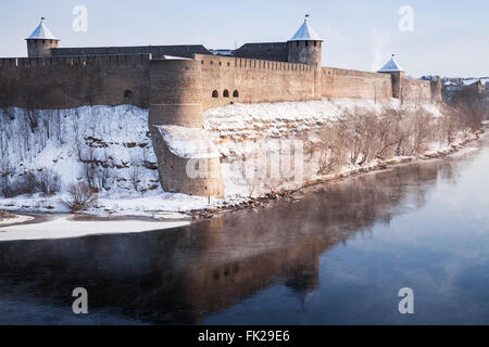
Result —
[[[88, 10], [86, 33], [73, 29], [75, 5]], [[406, 20], [399, 15], [403, 5], [414, 11], [413, 31], [399, 29]], [[415, 77], [489, 75], [487, 0], [2, 0], [0, 56], [26, 56], [24, 39], [41, 16], [61, 47], [235, 48], [286, 41], [305, 13], [325, 40], [324, 66], [373, 70], [397, 53], [399, 64]]]

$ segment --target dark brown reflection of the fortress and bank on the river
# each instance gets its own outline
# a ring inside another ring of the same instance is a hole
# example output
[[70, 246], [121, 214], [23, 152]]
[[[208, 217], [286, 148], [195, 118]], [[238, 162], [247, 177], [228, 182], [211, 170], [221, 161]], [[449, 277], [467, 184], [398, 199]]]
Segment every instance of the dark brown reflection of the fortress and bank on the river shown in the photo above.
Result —
[[[322, 255], [422, 207], [439, 180], [456, 184], [457, 172], [473, 159], [360, 176], [258, 213], [237, 211], [175, 230], [0, 243], [0, 297], [61, 308], [60, 323], [71, 322], [77, 286], [88, 290], [91, 312], [111, 314], [115, 323], [198, 324], [274, 285], [304, 305], [326, 285], [319, 279]], [[8, 322], [1, 308], [0, 303], [0, 318]], [[21, 314], [43, 322], [34, 310]]]

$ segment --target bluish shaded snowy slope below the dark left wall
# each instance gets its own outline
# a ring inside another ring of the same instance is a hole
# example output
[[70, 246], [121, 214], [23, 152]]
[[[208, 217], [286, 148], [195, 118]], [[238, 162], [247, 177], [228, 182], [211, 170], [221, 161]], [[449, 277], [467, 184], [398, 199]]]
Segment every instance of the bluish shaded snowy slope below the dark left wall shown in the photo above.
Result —
[[53, 196], [4, 197], [0, 191], [0, 209], [68, 211], [67, 190], [85, 181], [87, 171], [100, 189], [97, 208], [88, 213], [167, 217], [209, 207], [208, 198], [162, 191], [147, 110], [0, 110], [0, 180], [11, 188], [26, 172], [49, 169], [61, 178], [61, 192]]

